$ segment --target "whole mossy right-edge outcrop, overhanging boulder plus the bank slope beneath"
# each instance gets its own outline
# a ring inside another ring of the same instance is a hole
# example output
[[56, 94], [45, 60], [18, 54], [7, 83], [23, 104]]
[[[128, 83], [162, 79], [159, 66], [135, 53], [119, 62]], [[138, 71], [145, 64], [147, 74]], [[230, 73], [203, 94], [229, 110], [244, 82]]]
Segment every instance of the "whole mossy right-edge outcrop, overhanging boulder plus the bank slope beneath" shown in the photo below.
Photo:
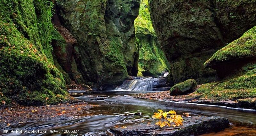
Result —
[[256, 27], [226, 47], [217, 51], [205, 62], [206, 67], [217, 71], [217, 82], [201, 85], [197, 90], [204, 97], [241, 99], [244, 103], [256, 97]]

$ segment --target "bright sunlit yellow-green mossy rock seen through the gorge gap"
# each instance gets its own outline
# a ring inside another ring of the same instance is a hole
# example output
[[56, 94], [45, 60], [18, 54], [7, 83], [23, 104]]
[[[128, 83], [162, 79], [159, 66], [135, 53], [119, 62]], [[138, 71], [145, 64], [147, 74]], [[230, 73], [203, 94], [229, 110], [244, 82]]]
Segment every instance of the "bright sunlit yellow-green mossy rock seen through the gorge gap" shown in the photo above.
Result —
[[138, 76], [160, 76], [164, 71], [169, 71], [170, 64], [160, 48], [150, 19], [148, 0], [140, 2], [140, 14], [135, 19], [134, 26], [140, 45]]

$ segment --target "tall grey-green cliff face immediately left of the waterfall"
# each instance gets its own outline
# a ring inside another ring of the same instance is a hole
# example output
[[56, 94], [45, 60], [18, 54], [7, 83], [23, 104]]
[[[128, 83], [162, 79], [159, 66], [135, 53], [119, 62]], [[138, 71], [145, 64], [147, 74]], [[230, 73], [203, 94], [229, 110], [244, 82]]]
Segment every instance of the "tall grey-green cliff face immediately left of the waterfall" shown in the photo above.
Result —
[[60, 20], [76, 38], [77, 70], [94, 88], [137, 76], [134, 20], [140, 0], [57, 0]]

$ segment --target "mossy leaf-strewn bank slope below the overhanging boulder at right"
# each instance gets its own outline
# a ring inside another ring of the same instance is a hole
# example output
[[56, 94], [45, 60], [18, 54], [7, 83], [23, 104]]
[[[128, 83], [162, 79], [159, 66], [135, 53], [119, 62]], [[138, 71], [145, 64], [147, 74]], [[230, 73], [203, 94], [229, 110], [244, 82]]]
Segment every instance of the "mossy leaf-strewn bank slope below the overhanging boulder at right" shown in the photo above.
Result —
[[244, 99], [256, 97], [256, 64], [242, 68], [239, 75], [201, 85], [197, 90], [208, 99]]

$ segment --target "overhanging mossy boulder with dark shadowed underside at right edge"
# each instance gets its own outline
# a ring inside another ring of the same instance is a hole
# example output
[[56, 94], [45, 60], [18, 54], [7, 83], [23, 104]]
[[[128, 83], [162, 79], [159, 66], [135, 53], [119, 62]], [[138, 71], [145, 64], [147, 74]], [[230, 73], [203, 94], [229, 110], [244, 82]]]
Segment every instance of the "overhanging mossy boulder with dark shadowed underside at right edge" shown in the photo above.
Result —
[[217, 51], [212, 58], [204, 63], [204, 66], [217, 70], [217, 75], [220, 78], [225, 78], [248, 62], [255, 61], [255, 57], [256, 27], [253, 27], [242, 37]]

